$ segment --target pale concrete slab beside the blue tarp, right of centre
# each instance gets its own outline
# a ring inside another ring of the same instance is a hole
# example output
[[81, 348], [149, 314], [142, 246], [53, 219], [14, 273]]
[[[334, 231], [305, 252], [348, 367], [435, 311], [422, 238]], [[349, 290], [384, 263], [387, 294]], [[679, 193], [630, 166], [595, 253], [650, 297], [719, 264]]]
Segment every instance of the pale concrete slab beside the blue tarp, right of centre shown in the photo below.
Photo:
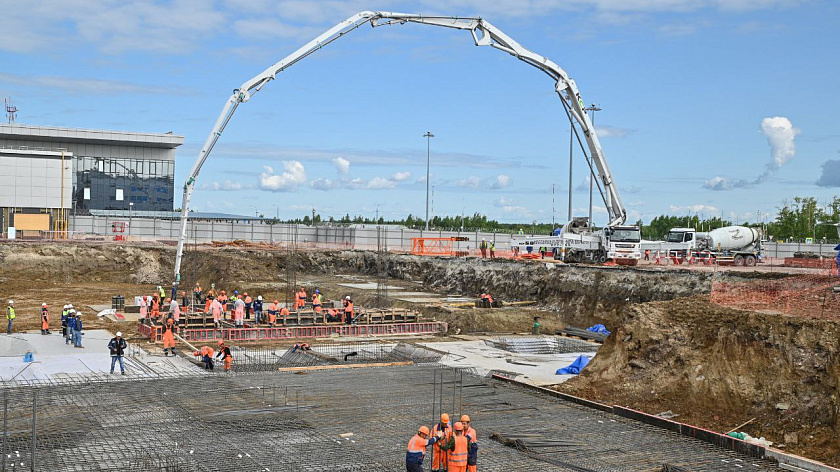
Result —
[[[571, 364], [579, 355], [594, 357], [592, 352], [569, 354], [515, 354], [475, 341], [422, 343], [423, 346], [448, 353], [441, 363], [452, 367], [472, 367], [479, 375], [491, 370], [504, 370], [519, 374], [516, 380], [531, 385], [545, 386], [563, 383], [574, 375], [557, 375], [557, 369]], [[523, 365], [531, 364], [531, 365]]]

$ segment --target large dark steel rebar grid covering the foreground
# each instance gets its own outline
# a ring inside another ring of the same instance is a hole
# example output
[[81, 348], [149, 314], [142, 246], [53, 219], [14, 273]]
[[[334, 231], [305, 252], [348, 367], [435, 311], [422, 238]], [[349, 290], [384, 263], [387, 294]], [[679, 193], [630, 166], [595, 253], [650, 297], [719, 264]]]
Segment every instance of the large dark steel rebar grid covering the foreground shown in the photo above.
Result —
[[[36, 470], [401, 471], [409, 438], [441, 411], [456, 420], [471, 416], [483, 471], [779, 470], [653, 426], [434, 366], [9, 387], [0, 398], [9, 405], [6, 470], [30, 470], [33, 396]], [[506, 446], [490, 440], [493, 433], [527, 436], [530, 444]]]

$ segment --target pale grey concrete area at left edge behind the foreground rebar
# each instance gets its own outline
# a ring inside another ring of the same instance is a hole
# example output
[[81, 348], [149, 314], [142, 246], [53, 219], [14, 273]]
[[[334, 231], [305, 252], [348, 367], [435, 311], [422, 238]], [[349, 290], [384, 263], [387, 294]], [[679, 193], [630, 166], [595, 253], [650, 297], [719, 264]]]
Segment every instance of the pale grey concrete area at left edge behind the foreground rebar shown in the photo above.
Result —
[[[0, 381], [62, 382], [108, 375], [111, 370], [108, 341], [113, 337], [113, 333], [101, 329], [85, 331], [84, 349], [79, 349], [65, 344], [60, 331], [51, 335], [0, 335]], [[24, 361], [26, 353], [32, 354], [31, 362]], [[124, 362], [126, 375], [131, 377], [195, 369], [179, 357], [153, 355], [133, 345], [129, 345]], [[115, 370], [119, 373], [119, 365]]]

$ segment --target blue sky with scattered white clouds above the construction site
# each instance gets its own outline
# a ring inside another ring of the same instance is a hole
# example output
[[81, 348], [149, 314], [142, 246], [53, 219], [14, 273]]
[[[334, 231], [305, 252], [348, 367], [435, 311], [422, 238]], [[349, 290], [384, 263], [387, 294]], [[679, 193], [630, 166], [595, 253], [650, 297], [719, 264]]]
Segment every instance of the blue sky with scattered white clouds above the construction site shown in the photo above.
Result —
[[[18, 123], [183, 135], [176, 189], [233, 89], [363, 10], [480, 16], [557, 63], [601, 108], [595, 128], [630, 221], [769, 220], [840, 187], [834, 0], [0, 3], [0, 94]], [[469, 32], [365, 25], [277, 79], [236, 111], [195, 210], [423, 217], [428, 152], [432, 214], [567, 220], [555, 84]], [[588, 167], [580, 149], [572, 158], [582, 216]]]

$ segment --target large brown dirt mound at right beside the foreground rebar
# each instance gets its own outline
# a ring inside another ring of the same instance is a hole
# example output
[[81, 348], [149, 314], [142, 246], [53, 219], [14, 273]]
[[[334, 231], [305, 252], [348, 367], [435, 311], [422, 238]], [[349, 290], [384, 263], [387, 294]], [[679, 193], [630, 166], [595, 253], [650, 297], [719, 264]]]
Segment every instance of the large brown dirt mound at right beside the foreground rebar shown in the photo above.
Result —
[[717, 431], [741, 428], [840, 464], [835, 322], [689, 298], [629, 306], [583, 374], [557, 388]]

